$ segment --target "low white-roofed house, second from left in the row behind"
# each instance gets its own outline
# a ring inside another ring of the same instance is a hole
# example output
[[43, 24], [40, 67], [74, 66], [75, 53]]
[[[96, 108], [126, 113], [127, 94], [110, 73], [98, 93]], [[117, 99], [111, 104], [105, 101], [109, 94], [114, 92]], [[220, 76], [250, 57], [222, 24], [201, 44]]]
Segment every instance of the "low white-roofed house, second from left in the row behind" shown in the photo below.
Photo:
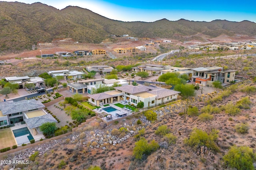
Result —
[[54, 71], [49, 71], [48, 74], [50, 76], [52, 76], [53, 78], [57, 77], [57, 76], [63, 76], [64, 80], [68, 80], [68, 79], [81, 79], [82, 75], [84, 74], [83, 72], [79, 72], [76, 70], [54, 70]]

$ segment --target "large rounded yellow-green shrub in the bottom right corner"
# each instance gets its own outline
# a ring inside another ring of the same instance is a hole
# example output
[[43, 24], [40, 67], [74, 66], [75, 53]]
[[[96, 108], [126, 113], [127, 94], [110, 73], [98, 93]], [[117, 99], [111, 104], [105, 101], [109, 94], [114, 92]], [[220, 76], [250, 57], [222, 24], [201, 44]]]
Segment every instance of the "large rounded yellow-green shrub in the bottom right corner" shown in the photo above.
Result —
[[223, 160], [229, 168], [254, 170], [253, 162], [256, 160], [256, 154], [249, 147], [232, 146], [223, 156]]

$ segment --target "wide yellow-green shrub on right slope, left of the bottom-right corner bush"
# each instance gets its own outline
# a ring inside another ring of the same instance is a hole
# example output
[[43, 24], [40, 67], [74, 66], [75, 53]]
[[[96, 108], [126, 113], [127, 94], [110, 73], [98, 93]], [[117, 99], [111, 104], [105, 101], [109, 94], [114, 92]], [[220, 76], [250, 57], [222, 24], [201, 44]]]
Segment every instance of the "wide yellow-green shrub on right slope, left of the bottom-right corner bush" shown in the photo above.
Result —
[[212, 149], [214, 152], [219, 152], [219, 148], [214, 143], [218, 138], [218, 131], [212, 129], [212, 131], [207, 134], [201, 129], [194, 128], [188, 139], [184, 140], [184, 143], [194, 148], [195, 150], [200, 146], [206, 146]]

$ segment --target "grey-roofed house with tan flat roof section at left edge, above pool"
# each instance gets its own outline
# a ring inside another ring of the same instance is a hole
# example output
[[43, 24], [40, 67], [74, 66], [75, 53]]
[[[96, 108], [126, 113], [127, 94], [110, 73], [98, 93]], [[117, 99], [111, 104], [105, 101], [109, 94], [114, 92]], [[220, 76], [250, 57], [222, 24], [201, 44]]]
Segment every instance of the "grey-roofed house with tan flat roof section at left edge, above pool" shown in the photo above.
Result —
[[25, 121], [33, 134], [41, 133], [39, 127], [46, 122], [57, 122], [44, 111], [44, 104], [35, 99], [0, 102], [0, 127]]

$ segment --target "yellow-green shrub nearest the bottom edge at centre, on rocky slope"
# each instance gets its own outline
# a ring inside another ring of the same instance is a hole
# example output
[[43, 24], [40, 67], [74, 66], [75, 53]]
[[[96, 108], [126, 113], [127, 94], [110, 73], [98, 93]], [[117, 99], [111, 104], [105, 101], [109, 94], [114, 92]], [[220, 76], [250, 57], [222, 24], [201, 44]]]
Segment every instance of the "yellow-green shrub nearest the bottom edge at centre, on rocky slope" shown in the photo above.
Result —
[[152, 152], [156, 151], [159, 148], [158, 143], [152, 140], [150, 144], [148, 144], [145, 138], [140, 139], [138, 142], [135, 143], [133, 149], [133, 155], [136, 159], [141, 160], [143, 157], [148, 156]]

